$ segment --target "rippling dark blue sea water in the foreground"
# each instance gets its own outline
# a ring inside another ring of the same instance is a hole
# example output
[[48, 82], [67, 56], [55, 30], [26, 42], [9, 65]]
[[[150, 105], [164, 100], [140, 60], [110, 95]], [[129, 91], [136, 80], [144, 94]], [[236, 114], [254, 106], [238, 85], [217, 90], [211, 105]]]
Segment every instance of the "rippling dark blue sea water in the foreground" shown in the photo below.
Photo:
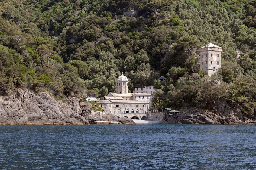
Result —
[[255, 125], [1, 125], [0, 169], [256, 169]]

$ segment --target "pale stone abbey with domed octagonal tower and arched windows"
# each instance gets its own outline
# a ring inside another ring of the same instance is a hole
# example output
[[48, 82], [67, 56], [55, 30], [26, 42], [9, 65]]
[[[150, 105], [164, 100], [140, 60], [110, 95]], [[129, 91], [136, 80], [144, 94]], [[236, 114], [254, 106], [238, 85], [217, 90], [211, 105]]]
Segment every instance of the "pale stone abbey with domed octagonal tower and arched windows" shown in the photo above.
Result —
[[129, 81], [122, 73], [116, 80], [116, 92], [110, 92], [99, 104], [105, 113], [115, 114], [118, 117], [147, 120], [153, 94], [129, 93]]

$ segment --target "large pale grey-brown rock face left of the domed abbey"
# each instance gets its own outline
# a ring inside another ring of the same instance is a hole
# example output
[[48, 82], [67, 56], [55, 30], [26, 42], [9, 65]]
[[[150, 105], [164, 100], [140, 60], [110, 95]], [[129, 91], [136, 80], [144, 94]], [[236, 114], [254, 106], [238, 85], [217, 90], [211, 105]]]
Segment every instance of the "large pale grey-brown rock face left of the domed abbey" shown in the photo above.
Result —
[[63, 104], [46, 92], [19, 89], [12, 97], [0, 97], [0, 124], [89, 124], [82, 109], [74, 97]]

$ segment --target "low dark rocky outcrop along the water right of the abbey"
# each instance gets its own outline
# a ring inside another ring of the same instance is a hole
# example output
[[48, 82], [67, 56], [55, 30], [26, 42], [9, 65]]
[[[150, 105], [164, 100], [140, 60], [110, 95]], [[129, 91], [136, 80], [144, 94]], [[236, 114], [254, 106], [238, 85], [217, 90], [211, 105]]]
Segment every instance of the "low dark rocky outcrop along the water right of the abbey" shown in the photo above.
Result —
[[[228, 108], [228, 112], [227, 112]], [[166, 115], [160, 123], [177, 123], [177, 124], [256, 124], [253, 119], [248, 119], [242, 116], [240, 110], [230, 110], [229, 106], [219, 107], [222, 113], [215, 114], [210, 111], [199, 111], [198, 109], [189, 109], [178, 115]]]

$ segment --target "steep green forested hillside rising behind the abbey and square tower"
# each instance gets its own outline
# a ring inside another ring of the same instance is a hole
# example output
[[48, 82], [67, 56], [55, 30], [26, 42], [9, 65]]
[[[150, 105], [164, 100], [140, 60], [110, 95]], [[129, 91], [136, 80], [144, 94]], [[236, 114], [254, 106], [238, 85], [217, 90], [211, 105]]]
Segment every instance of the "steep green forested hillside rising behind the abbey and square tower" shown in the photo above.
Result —
[[[2, 0], [0, 93], [16, 88], [102, 97], [124, 72], [154, 85], [157, 107], [256, 109], [255, 0]], [[198, 48], [221, 46], [209, 80]], [[238, 52], [237, 52], [238, 51]], [[158, 78], [167, 80], [160, 82]], [[163, 100], [164, 98], [168, 100]]]

